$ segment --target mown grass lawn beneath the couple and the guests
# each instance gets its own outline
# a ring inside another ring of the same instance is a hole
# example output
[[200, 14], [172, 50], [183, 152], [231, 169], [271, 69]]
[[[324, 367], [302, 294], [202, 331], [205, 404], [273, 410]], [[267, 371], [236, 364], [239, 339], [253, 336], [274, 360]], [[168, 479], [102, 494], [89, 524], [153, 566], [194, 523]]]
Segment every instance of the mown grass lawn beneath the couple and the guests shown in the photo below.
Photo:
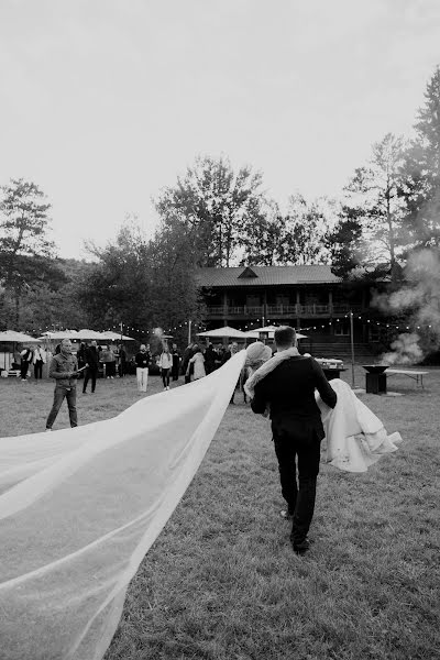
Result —
[[[425, 389], [399, 375], [388, 388], [404, 396], [361, 395], [404, 442], [365, 474], [322, 465], [316, 542], [302, 558], [278, 515], [268, 422], [237, 394], [130, 585], [106, 660], [438, 659], [440, 370], [429, 371]], [[151, 377], [147, 395], [160, 389]], [[0, 380], [0, 436], [44, 429], [52, 392], [47, 381]], [[98, 381], [78, 395], [79, 422], [141, 396], [134, 376]], [[54, 428], [66, 426], [64, 404]]]

